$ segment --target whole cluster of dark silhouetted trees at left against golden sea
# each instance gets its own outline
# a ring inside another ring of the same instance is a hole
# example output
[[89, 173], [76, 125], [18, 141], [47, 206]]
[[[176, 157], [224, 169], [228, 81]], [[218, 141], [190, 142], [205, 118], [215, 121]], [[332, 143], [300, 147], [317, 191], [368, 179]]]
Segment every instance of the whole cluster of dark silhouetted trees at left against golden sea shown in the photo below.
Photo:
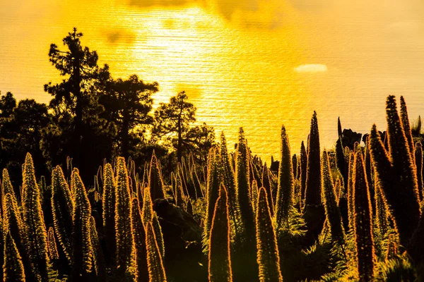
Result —
[[143, 173], [142, 164], [153, 150], [165, 170], [189, 152], [206, 164], [215, 133], [206, 123], [194, 126], [196, 107], [187, 94], [180, 92], [154, 110], [158, 82], [143, 81], [137, 74], [112, 78], [109, 66], [99, 66], [97, 51], [82, 39], [74, 27], [62, 47], [50, 45], [49, 61], [62, 80], [44, 85], [52, 95], [49, 104], [17, 102], [11, 92], [0, 93], [0, 165], [9, 168], [12, 182], [20, 181], [27, 152], [42, 174], [72, 164], [90, 183], [105, 159], [118, 156], [134, 159]]

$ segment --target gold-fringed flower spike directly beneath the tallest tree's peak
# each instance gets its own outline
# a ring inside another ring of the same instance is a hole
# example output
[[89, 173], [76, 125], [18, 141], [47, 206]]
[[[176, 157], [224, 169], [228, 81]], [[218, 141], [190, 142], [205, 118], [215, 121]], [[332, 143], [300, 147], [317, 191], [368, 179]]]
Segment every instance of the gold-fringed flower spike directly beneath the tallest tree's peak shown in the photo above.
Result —
[[71, 186], [75, 201], [72, 218], [73, 274], [76, 277], [85, 277], [93, 266], [93, 246], [90, 240], [91, 206], [78, 168], [73, 168]]

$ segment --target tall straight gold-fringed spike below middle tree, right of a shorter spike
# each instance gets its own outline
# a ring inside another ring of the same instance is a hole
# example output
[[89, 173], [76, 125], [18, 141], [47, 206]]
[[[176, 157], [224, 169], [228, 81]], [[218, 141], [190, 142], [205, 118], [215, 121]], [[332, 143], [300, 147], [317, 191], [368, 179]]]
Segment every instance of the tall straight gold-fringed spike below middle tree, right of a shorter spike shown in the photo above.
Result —
[[117, 159], [117, 189], [115, 192], [115, 231], [117, 235], [117, 270], [124, 274], [131, 266], [133, 238], [131, 232], [131, 192], [125, 159]]

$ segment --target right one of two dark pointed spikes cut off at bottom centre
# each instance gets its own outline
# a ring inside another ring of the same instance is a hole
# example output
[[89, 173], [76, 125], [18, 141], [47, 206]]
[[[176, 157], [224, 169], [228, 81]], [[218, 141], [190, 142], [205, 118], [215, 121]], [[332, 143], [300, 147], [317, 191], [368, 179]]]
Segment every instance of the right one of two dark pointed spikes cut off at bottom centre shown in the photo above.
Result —
[[259, 202], [256, 218], [257, 261], [259, 264], [259, 281], [283, 282], [280, 270], [276, 232], [273, 229], [268, 200], [264, 188], [259, 190]]

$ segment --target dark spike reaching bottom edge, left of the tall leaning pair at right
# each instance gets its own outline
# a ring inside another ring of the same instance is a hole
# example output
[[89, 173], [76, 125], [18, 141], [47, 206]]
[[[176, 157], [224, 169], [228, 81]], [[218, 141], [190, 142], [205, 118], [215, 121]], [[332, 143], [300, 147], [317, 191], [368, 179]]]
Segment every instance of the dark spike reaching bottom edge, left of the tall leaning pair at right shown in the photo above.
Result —
[[353, 207], [355, 246], [358, 256], [358, 274], [361, 282], [372, 281], [375, 271], [375, 247], [372, 235], [372, 209], [370, 191], [365, 174], [363, 154], [355, 153], [353, 179]]

